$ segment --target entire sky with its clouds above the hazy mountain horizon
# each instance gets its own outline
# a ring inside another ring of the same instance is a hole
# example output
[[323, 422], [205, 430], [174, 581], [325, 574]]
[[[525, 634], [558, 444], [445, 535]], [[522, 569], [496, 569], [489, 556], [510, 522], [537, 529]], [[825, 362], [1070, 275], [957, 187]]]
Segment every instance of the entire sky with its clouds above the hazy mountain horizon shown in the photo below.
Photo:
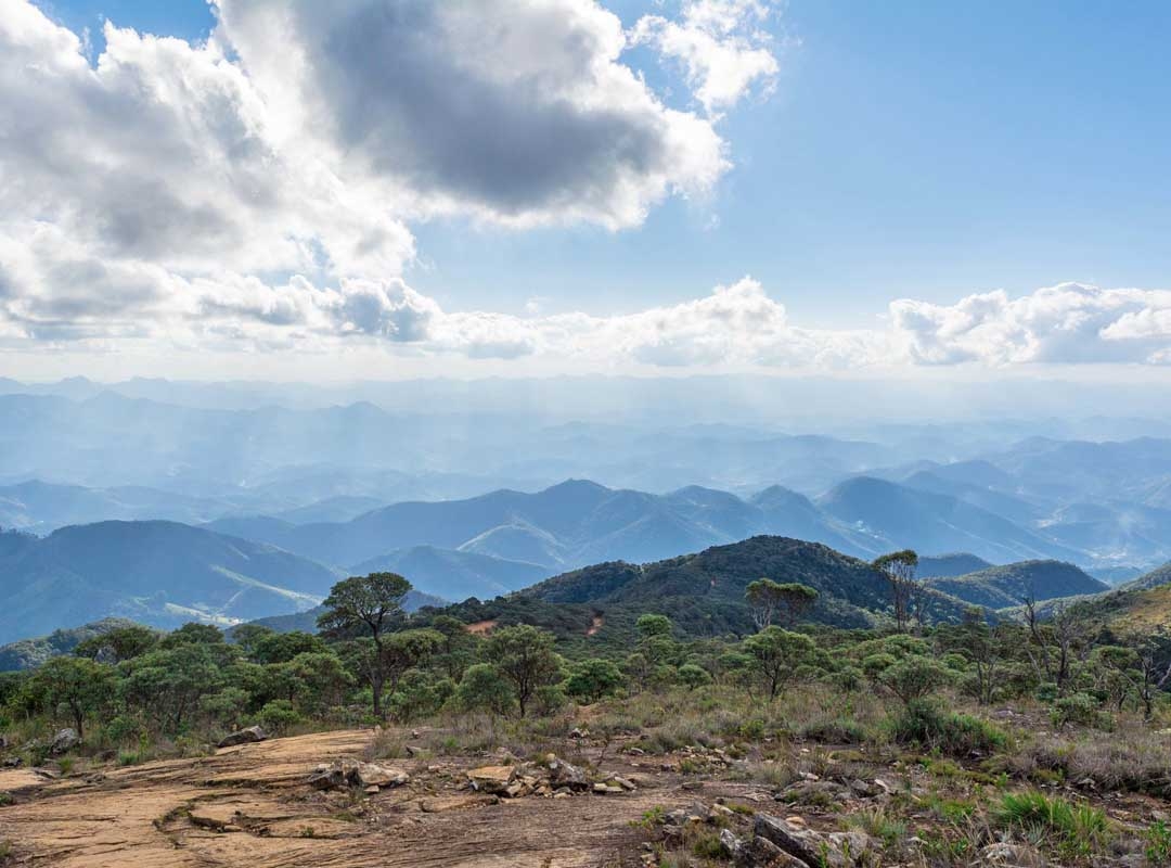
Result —
[[1162, 382], [1169, 36], [1162, 2], [2, 0], [0, 375]]

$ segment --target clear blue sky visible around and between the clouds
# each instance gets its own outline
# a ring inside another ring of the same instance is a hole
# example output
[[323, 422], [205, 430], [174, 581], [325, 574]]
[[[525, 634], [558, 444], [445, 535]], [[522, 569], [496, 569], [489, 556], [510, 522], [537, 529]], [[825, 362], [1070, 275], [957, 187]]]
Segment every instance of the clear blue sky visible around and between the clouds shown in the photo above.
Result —
[[[46, 8], [76, 29], [213, 23], [200, 0]], [[607, 313], [752, 274], [824, 326], [900, 295], [1171, 283], [1171, 6], [793, 0], [773, 26], [800, 45], [772, 98], [727, 118], [735, 169], [710, 201], [617, 233], [436, 220], [415, 227], [413, 283], [445, 306]]]

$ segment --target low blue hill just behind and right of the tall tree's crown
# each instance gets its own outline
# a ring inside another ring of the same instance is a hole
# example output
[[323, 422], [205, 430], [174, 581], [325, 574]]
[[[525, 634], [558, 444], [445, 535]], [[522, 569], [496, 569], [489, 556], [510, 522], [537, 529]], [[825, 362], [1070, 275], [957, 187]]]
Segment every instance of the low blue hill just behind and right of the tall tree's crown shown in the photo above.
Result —
[[552, 574], [552, 570], [536, 563], [434, 546], [390, 552], [356, 563], [348, 572], [352, 575], [398, 573], [410, 579], [416, 588], [453, 602], [470, 596], [487, 599], [520, 590]]

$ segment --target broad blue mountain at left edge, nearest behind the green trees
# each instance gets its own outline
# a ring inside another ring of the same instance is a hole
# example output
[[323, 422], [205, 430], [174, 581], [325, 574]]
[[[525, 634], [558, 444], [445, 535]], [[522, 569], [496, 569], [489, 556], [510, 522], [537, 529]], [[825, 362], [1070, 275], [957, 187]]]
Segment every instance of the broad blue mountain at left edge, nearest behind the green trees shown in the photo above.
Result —
[[173, 627], [292, 613], [315, 606], [338, 577], [272, 546], [170, 521], [2, 534], [0, 575], [0, 641], [107, 616]]

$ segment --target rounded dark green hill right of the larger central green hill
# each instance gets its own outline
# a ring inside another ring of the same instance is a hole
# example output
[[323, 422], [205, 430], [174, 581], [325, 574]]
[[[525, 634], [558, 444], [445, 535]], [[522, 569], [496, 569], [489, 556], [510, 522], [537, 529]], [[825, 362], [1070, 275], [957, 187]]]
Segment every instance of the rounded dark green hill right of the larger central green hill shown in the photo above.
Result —
[[1110, 586], [1061, 561], [1021, 561], [967, 575], [929, 579], [927, 587], [989, 609], [1020, 606], [1026, 599], [1055, 600], [1100, 594]]

